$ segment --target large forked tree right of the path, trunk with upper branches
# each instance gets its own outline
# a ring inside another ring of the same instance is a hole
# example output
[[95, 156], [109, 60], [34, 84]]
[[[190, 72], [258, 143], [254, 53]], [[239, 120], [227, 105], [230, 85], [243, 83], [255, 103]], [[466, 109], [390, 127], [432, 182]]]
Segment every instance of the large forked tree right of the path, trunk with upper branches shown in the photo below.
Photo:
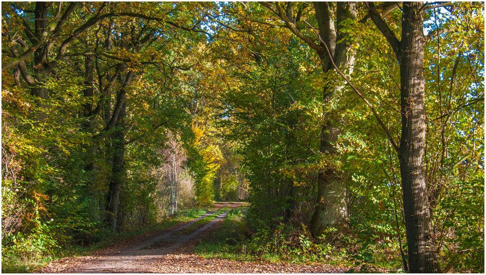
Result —
[[[351, 41], [344, 31], [348, 22], [356, 20], [357, 8], [355, 2], [313, 2], [317, 28], [312, 27], [302, 17], [305, 12], [308, 13], [309, 9], [312, 9], [307, 3], [299, 3], [296, 6], [294, 2], [287, 4], [263, 2], [262, 5], [282, 19], [285, 23], [284, 27], [319, 55], [323, 73], [329, 74], [335, 72], [335, 69], [344, 72], [347, 76], [353, 73], [355, 50], [351, 48]], [[395, 5], [383, 4], [381, 12], [388, 14], [395, 8]], [[362, 20], [366, 19], [363, 18]], [[318, 30], [317, 37], [312, 31], [306, 34], [306, 32], [309, 32], [309, 26]], [[333, 66], [332, 62], [335, 63], [337, 68]], [[331, 158], [336, 154], [335, 142], [338, 135], [342, 133], [342, 125], [345, 122], [343, 119], [333, 117], [334, 112], [330, 110], [329, 105], [332, 104], [336, 95], [341, 94], [344, 85], [342, 81], [339, 84], [331, 81], [327, 83], [324, 85], [322, 94], [325, 106], [319, 150], [323, 157]], [[321, 235], [327, 227], [347, 227], [346, 185], [346, 177], [341, 169], [333, 166], [319, 169], [317, 205], [311, 221], [311, 232], [314, 236]]]

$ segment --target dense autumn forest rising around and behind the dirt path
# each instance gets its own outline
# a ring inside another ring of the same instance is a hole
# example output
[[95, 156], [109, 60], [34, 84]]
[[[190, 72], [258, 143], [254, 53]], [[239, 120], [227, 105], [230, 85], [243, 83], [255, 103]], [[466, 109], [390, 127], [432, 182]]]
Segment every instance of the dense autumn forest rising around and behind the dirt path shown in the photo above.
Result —
[[484, 3], [1, 13], [3, 266], [216, 200], [245, 253], [484, 272]]

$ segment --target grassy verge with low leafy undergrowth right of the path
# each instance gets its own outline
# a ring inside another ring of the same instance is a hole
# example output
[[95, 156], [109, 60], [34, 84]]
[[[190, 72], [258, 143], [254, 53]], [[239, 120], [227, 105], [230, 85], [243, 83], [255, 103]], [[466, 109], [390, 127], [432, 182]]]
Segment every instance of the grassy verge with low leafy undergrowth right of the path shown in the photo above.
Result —
[[194, 247], [194, 251], [206, 258], [293, 264], [324, 263], [353, 268], [351, 271], [354, 273], [399, 271], [399, 259], [383, 256], [384, 250], [375, 251], [375, 246], [366, 245], [355, 236], [333, 232], [328, 234], [338, 240], [312, 241], [307, 237], [305, 229], [299, 231], [284, 224], [273, 230], [261, 228], [250, 233], [246, 227], [244, 207], [239, 207], [230, 211], [218, 230]]

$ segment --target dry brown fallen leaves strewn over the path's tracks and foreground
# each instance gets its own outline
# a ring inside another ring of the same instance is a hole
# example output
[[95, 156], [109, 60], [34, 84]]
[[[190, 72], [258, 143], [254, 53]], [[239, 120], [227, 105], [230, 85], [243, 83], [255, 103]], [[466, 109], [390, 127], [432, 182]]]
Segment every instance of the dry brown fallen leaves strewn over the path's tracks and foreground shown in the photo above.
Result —
[[[218, 207], [219, 206], [219, 207]], [[217, 208], [235, 205], [217, 205]], [[139, 255], [132, 257], [121, 257], [116, 255], [123, 249], [131, 247], [147, 238], [155, 237], [163, 232], [174, 230], [185, 223], [179, 223], [173, 227], [155, 232], [144, 234], [134, 238], [121, 240], [109, 247], [91, 253], [90, 256], [67, 257], [51, 262], [44, 267], [42, 273], [75, 273], [85, 264], [96, 266], [103, 257], [110, 257], [117, 262], [116, 268], [106, 268], [100, 264], [97, 272], [104, 273], [343, 273], [349, 268], [330, 266], [323, 264], [315, 265], [294, 265], [288, 263], [265, 263], [233, 261], [226, 259], [207, 259], [193, 253], [194, 245], [201, 240], [210, 238], [210, 233], [214, 232], [221, 224], [212, 226], [206, 232], [185, 243], [178, 249], [167, 255]], [[163, 247], [166, 244], [155, 243], [154, 248]]]

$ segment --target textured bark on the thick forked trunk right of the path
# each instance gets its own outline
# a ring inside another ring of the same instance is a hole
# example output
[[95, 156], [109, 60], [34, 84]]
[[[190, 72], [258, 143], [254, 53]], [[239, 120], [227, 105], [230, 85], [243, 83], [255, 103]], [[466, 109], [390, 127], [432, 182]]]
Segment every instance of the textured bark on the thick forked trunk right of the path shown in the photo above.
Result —
[[[346, 39], [336, 44], [336, 40], [344, 38], [340, 23], [348, 18], [356, 18], [356, 4], [354, 2], [336, 3], [336, 26], [330, 9], [330, 3], [314, 2], [316, 18], [319, 25], [319, 36], [326, 43], [331, 52], [332, 59], [340, 70], [347, 75], [352, 73], [354, 65], [354, 51], [349, 49], [349, 42]], [[336, 32], [337, 30], [337, 32]], [[324, 46], [321, 42], [321, 46]], [[319, 53], [324, 73], [332, 70], [330, 56], [326, 51]], [[323, 92], [324, 103], [330, 102], [336, 92], [340, 92], [343, 85], [337, 87], [325, 87]], [[332, 122], [331, 122], [332, 121]], [[319, 150], [324, 154], [334, 154], [334, 147], [338, 135], [342, 132], [342, 122], [335, 119], [328, 119], [328, 122], [321, 126]], [[319, 171], [317, 176], [317, 205], [312, 214], [310, 230], [312, 235], [320, 236], [328, 227], [338, 229], [347, 228], [347, 184], [344, 171], [327, 167]]]

